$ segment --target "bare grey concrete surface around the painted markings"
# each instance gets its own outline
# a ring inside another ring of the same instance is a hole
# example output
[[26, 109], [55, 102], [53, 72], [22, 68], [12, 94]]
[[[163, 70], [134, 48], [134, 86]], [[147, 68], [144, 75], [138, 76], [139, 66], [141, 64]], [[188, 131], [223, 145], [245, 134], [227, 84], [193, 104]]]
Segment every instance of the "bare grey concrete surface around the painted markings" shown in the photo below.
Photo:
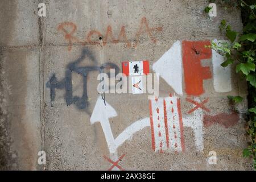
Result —
[[[46, 3], [46, 17], [39, 18], [37, 14], [39, 2]], [[216, 92], [212, 77], [204, 80], [205, 92], [198, 97], [185, 92], [184, 77], [182, 96], [175, 94], [160, 77], [159, 97], [167, 98], [172, 93], [180, 98], [183, 122], [195, 114], [189, 113], [195, 105], [186, 98], [200, 102], [209, 98], [205, 104], [209, 112], [196, 109], [204, 116], [231, 114], [236, 110], [234, 115], [238, 115], [238, 120], [229, 120], [228, 123], [234, 122], [234, 125], [228, 127], [218, 124], [225, 115], [208, 119], [212, 125], [203, 126], [201, 130], [201, 151], [196, 148], [195, 131], [184, 124], [183, 152], [169, 148], [163, 152], [154, 151], [151, 127], [147, 126], [121, 144], [115, 154], [110, 154], [105, 138], [109, 133], [104, 133], [100, 122], [90, 122], [100, 96], [97, 71], [90, 72], [86, 78], [86, 108], [82, 108], [79, 101], [67, 104], [65, 82], [63, 88], [55, 89], [54, 101], [51, 99], [50, 78], [55, 74], [59, 83], [67, 78], [68, 65], [80, 59], [85, 49], [88, 50], [84, 52], [87, 57], [82, 59], [79, 67], [113, 63], [122, 72], [122, 61], [148, 60], [150, 73], [154, 73], [152, 65], [176, 40], [225, 39], [218, 30], [222, 19], [226, 19], [234, 30], [242, 30], [240, 10], [226, 11], [217, 5], [217, 16], [209, 18], [204, 13], [207, 5], [208, 1], [204, 0], [0, 1], [0, 168], [107, 170], [112, 164], [106, 158], [116, 161], [125, 154], [118, 163], [125, 170], [251, 170], [251, 161], [242, 158], [242, 150], [247, 145], [243, 119], [247, 101], [244, 99], [242, 104], [232, 106], [226, 98], [228, 95], [246, 98], [246, 84], [233, 72], [230, 92]], [[69, 22], [64, 26], [67, 32], [76, 26], [72, 37], [65, 36], [61, 29], [64, 22]], [[108, 26], [112, 27], [114, 39], [125, 26], [127, 40], [121, 36], [118, 42], [113, 42], [109, 37], [104, 44], [99, 36], [105, 40]], [[93, 30], [97, 33], [93, 32], [89, 41], [88, 34]], [[213, 72], [211, 60], [201, 64]], [[168, 72], [168, 68], [163, 72]], [[184, 75], [184, 71], [182, 73]], [[81, 97], [85, 77], [76, 72], [71, 74], [73, 97]], [[147, 94], [105, 94], [105, 100], [117, 113], [116, 117], [109, 118], [114, 138], [135, 121], [150, 118]], [[102, 115], [104, 109], [95, 112]], [[196, 119], [195, 122], [203, 121]], [[38, 164], [38, 152], [42, 150], [46, 151], [46, 165]], [[217, 164], [209, 164], [209, 151], [216, 151]]]

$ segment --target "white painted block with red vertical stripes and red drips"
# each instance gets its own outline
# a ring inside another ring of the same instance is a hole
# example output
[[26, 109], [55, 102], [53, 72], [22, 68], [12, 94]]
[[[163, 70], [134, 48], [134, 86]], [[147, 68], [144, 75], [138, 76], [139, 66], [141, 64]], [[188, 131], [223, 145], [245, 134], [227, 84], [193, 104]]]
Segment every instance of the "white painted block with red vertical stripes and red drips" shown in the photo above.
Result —
[[150, 100], [150, 123], [153, 150], [185, 150], [179, 98]]

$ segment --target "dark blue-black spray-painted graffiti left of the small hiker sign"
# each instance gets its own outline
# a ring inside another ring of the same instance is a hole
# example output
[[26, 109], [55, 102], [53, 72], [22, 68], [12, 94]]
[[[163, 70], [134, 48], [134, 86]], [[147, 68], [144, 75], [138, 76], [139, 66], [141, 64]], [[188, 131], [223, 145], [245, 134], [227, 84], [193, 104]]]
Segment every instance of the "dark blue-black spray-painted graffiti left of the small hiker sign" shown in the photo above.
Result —
[[[82, 60], [88, 58], [92, 61], [92, 66], [79, 67], [78, 64], [81, 63]], [[84, 48], [82, 50], [82, 55], [79, 59], [75, 60], [73, 63], [67, 65], [67, 69], [65, 71], [65, 78], [61, 81], [57, 81], [55, 73], [49, 79], [46, 84], [46, 87], [50, 89], [51, 92], [51, 106], [53, 106], [53, 101], [55, 100], [55, 89], [65, 89], [65, 101], [67, 105], [75, 104], [79, 109], [86, 109], [89, 105], [88, 96], [87, 96], [87, 76], [89, 72], [98, 71], [100, 73], [104, 72], [104, 69], [115, 69], [115, 74], [119, 73], [119, 68], [117, 65], [113, 63], [105, 63], [101, 66], [97, 66], [97, 60], [94, 58], [93, 53], [89, 51], [89, 49]], [[82, 85], [82, 97], [73, 96], [73, 88], [72, 88], [72, 73], [75, 72], [82, 76], [83, 85]], [[107, 73], [110, 76], [110, 73]]]

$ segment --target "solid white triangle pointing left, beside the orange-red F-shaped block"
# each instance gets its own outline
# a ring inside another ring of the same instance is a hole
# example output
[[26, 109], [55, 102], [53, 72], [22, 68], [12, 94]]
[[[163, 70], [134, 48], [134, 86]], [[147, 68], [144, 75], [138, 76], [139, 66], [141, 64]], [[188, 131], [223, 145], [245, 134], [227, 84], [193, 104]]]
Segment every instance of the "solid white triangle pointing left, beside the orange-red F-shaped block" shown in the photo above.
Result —
[[153, 64], [152, 69], [155, 73], [159, 73], [160, 77], [162, 77], [177, 94], [183, 94], [181, 44], [179, 40]]

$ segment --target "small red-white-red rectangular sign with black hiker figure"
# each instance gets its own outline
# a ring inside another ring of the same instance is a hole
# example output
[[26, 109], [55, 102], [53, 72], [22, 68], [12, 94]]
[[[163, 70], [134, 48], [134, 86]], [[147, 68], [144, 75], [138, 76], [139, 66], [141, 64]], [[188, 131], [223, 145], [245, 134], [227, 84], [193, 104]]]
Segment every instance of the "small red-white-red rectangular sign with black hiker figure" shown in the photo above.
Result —
[[122, 62], [123, 74], [126, 76], [147, 75], [149, 73], [149, 64], [144, 61], [124, 61]]

